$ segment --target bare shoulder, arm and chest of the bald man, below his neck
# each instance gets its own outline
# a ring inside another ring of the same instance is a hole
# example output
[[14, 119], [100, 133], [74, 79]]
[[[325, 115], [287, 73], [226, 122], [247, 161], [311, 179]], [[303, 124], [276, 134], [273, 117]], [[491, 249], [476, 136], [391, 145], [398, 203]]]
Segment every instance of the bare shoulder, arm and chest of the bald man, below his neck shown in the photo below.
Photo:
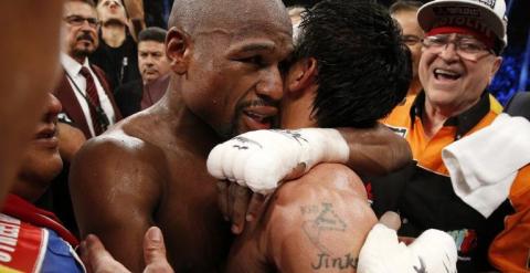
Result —
[[[226, 231], [221, 228], [223, 221], [211, 198], [215, 189], [205, 168], [200, 169], [201, 155], [208, 153], [214, 140], [211, 136], [215, 135], [204, 127], [177, 124], [170, 120], [171, 116], [142, 113], [81, 150], [72, 168], [73, 176], [91, 177], [92, 168], [80, 168], [75, 164], [78, 161], [97, 168], [102, 166], [100, 158], [106, 158], [107, 166], [100, 167], [91, 181], [73, 183], [76, 216], [84, 234], [97, 234], [114, 258], [134, 272], [144, 267], [141, 239], [152, 224], [165, 232], [168, 258], [177, 271], [190, 263], [193, 271], [213, 271], [229, 245]], [[193, 134], [174, 135], [191, 129]], [[168, 143], [181, 145], [167, 147]], [[191, 143], [204, 148], [187, 145]], [[190, 167], [169, 168], [182, 162]], [[97, 204], [83, 206], [92, 200], [97, 200]], [[124, 240], [129, 243], [124, 244]]]

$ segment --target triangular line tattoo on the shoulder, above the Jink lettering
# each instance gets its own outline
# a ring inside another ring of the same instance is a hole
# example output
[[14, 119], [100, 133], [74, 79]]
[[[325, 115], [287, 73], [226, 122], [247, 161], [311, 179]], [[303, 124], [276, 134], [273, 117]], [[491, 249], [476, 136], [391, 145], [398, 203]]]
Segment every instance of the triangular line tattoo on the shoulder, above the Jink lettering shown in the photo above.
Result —
[[300, 211], [309, 218], [301, 225], [304, 233], [320, 252], [330, 253], [322, 237], [329, 232], [344, 232], [347, 229], [344, 221], [333, 211], [332, 203], [303, 206]]

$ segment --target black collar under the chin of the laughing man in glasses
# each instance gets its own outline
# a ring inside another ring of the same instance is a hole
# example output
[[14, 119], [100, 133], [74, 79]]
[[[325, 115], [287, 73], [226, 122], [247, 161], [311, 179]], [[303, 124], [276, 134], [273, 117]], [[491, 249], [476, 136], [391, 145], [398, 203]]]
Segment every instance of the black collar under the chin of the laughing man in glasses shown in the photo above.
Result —
[[[422, 90], [417, 96], [416, 99], [414, 99], [414, 103], [411, 107], [411, 120], [414, 120], [414, 118], [417, 116], [422, 118], [423, 112], [425, 107], [425, 92]], [[486, 114], [488, 114], [490, 109], [489, 105], [489, 93], [487, 91], [484, 91], [483, 94], [480, 95], [480, 99], [478, 103], [473, 105], [469, 109], [465, 111], [464, 113], [453, 116], [447, 118], [445, 120], [444, 126], [455, 126], [456, 127], [456, 133], [455, 133], [455, 140], [459, 139], [464, 135], [466, 135], [475, 125], [483, 119]], [[412, 125], [414, 126], [414, 122], [412, 122]]]

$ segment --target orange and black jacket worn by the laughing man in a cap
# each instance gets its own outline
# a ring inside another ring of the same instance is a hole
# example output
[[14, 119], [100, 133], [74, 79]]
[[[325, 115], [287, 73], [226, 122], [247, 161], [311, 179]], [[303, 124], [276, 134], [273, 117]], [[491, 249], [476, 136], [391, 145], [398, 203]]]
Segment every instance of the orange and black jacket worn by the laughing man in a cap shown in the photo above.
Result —
[[491, 124], [502, 107], [484, 92], [476, 105], [448, 118], [428, 139], [421, 119], [424, 105], [422, 92], [417, 97], [407, 97], [382, 120], [406, 138], [414, 161], [401, 171], [370, 180], [367, 187], [375, 213], [398, 211], [402, 218], [399, 234], [403, 237], [417, 237], [432, 228], [448, 232], [458, 249], [458, 272], [486, 271], [491, 266], [519, 272], [513, 269], [524, 269], [530, 254], [529, 167], [519, 171], [509, 198], [485, 218], [454, 193], [442, 160], [444, 147]]

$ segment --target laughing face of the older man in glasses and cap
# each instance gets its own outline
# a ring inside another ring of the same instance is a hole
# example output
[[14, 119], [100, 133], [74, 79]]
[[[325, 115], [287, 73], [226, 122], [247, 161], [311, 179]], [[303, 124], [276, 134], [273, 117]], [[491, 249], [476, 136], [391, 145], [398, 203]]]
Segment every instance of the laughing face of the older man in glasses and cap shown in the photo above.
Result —
[[[452, 34], [455, 39], [456, 34]], [[501, 57], [484, 52], [476, 61], [463, 59], [449, 43], [435, 54], [424, 49], [420, 61], [420, 80], [426, 106], [458, 115], [478, 102], [480, 94], [499, 70]]]

